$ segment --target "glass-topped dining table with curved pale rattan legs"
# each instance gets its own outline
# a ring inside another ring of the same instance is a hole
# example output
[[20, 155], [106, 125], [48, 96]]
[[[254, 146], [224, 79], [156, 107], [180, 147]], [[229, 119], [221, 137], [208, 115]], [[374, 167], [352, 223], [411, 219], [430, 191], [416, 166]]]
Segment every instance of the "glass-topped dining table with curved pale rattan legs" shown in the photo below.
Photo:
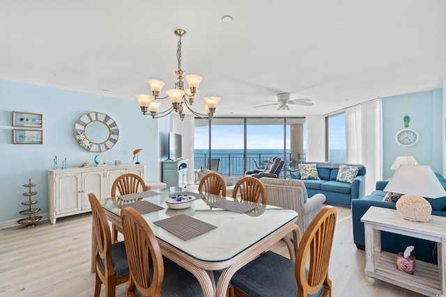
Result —
[[[194, 274], [203, 289], [203, 296], [226, 296], [233, 274], [282, 239], [289, 249], [291, 259], [295, 257], [295, 246], [289, 234], [298, 228], [295, 225], [298, 219], [296, 211], [268, 204], [255, 204], [246, 212], [230, 211], [210, 204], [240, 201], [220, 195], [185, 191], [185, 188], [177, 187], [144, 193], [147, 194], [141, 194], [144, 197], [139, 197], [138, 202], [150, 202], [157, 206], [158, 210], [141, 216], [153, 230], [162, 255]], [[190, 207], [172, 209], [169, 207], [171, 204], [168, 206], [166, 202], [178, 194], [192, 195], [195, 199], [190, 203]], [[121, 209], [132, 207], [132, 203], [122, 205], [119, 197], [102, 198], [99, 201], [105, 209], [107, 219], [122, 228]], [[252, 202], [246, 203], [252, 204]], [[162, 220], [167, 221], [166, 219], [176, 216], [178, 218], [188, 216], [196, 219], [194, 222], [197, 225], [205, 224], [212, 227], [203, 234], [182, 239], [180, 238], [183, 237], [182, 234], [177, 236], [178, 234], [175, 235], [160, 227]], [[95, 271], [95, 249], [95, 238], [92, 234], [92, 271]]]

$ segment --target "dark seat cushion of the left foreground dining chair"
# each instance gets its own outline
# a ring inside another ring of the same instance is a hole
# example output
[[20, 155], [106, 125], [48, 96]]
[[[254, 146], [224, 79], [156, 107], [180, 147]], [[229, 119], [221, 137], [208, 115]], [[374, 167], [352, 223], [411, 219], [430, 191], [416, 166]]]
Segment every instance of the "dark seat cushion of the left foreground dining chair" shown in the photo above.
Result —
[[[151, 270], [151, 272], [153, 272]], [[137, 296], [144, 297], [137, 289]], [[162, 281], [161, 295], [163, 297], [201, 297], [203, 291], [195, 276], [185, 268], [169, 259], [164, 259], [164, 280]]]

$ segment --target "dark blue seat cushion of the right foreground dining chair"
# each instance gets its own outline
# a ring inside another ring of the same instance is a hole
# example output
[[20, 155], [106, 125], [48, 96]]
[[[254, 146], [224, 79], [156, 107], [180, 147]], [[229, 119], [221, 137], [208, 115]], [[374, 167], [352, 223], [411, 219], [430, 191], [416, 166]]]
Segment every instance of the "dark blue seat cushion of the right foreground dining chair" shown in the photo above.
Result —
[[[249, 296], [298, 296], [294, 262], [271, 251], [240, 268], [233, 275], [231, 285]], [[321, 296], [324, 289], [322, 285], [316, 294], [309, 296]]]

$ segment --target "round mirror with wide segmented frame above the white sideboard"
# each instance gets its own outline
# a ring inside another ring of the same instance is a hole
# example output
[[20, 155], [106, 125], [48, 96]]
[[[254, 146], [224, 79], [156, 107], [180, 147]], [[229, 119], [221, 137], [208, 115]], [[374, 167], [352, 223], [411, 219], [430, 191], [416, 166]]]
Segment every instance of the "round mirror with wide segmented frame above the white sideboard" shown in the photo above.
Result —
[[110, 150], [118, 141], [116, 122], [105, 113], [85, 113], [75, 123], [75, 138], [89, 152]]

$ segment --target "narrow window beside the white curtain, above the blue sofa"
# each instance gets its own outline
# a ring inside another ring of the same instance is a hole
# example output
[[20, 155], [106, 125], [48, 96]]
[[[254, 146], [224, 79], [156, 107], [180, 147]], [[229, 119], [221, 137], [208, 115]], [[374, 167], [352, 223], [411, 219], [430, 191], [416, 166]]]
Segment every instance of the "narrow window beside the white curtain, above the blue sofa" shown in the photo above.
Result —
[[327, 161], [345, 163], [346, 161], [346, 114], [330, 115], [327, 123]]

